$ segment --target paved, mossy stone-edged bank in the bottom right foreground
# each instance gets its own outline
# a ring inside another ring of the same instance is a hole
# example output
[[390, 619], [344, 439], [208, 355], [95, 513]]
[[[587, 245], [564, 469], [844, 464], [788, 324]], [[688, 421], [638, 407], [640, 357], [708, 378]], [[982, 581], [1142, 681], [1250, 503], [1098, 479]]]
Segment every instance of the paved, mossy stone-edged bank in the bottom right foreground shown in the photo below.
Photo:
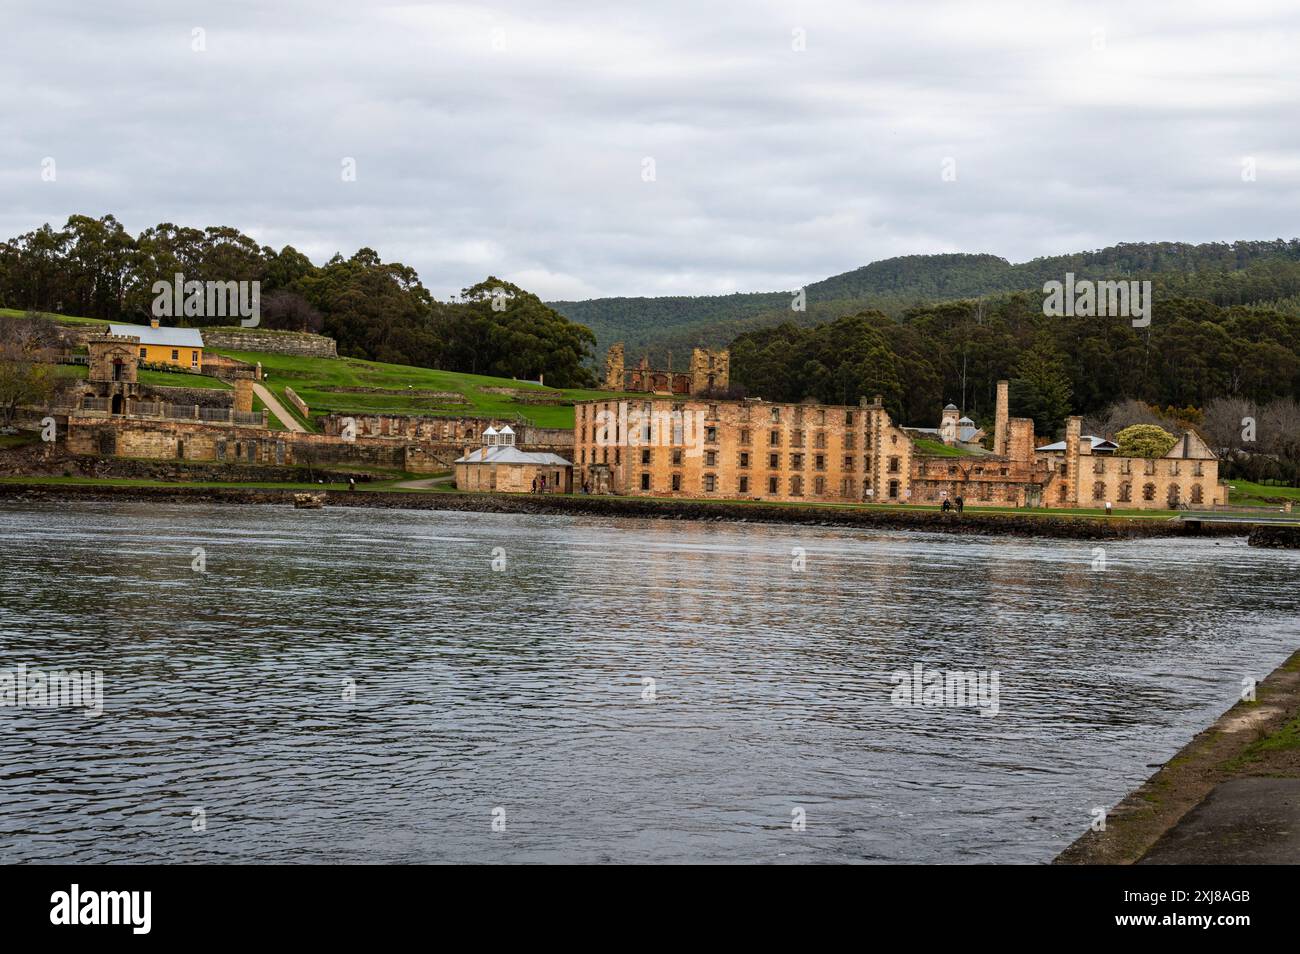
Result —
[[[1105, 832], [1084, 832], [1052, 863], [1161, 864], [1170, 863], [1173, 850], [1184, 853], [1179, 863], [1249, 863], [1254, 859], [1242, 854], [1256, 846], [1245, 842], [1262, 837], [1268, 844], [1273, 833], [1261, 829], [1236, 786], [1296, 777], [1300, 651], [1256, 686], [1254, 702], [1234, 704], [1124, 795], [1106, 814]], [[1208, 805], [1218, 816], [1210, 832], [1199, 818]]]

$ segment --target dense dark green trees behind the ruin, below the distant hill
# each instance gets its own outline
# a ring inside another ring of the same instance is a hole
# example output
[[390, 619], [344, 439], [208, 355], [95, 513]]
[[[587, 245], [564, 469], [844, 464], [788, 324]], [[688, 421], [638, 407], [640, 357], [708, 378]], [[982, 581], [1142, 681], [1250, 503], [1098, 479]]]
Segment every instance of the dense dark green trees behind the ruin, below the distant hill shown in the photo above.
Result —
[[879, 311], [803, 328], [738, 335], [732, 385], [770, 400], [855, 403], [880, 394], [896, 420], [936, 426], [948, 402], [989, 425], [996, 382], [1011, 381], [1011, 412], [1054, 435], [1070, 413], [1100, 415], [1122, 399], [1202, 408], [1214, 398], [1256, 404], [1300, 395], [1300, 316], [1157, 304], [1149, 328], [1124, 318], [1049, 318], [1043, 296], [942, 302], [894, 318]]

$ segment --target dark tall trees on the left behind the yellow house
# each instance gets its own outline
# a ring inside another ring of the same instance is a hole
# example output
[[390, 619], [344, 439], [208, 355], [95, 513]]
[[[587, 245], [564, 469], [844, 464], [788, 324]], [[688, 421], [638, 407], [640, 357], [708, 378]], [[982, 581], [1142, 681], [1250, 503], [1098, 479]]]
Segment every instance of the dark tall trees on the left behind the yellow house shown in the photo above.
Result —
[[[488, 277], [439, 302], [415, 269], [361, 248], [315, 265], [291, 246], [230, 227], [172, 224], [130, 235], [113, 216], [73, 216], [0, 243], [0, 308], [143, 324], [156, 281], [261, 282], [261, 326], [321, 331], [339, 354], [394, 364], [586, 387], [595, 337], [536, 295]], [[178, 318], [176, 324], [231, 324]]]

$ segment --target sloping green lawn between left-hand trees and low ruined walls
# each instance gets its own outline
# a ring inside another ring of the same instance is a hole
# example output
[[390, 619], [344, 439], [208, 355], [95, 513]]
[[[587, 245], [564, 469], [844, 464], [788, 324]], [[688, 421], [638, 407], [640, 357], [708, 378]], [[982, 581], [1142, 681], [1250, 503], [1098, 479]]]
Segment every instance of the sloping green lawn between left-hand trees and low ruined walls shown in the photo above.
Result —
[[[558, 390], [510, 378], [363, 361], [355, 357], [298, 357], [221, 348], [216, 351], [250, 364], [260, 361], [266, 376], [263, 383], [295, 417], [299, 417], [296, 411], [285, 398], [286, 385], [307, 402], [313, 417], [326, 413], [523, 417], [542, 428], [572, 428], [576, 400], [620, 396], [608, 391]], [[532, 404], [510, 394], [485, 390], [489, 387], [508, 387], [558, 403]], [[429, 391], [438, 394], [428, 394]]]

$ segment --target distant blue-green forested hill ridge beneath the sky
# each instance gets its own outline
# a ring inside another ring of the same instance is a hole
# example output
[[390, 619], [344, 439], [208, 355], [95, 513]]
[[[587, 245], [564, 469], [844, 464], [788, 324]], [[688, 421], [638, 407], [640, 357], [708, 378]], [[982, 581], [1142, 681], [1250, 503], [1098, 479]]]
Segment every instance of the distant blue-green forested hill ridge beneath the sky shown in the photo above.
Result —
[[601, 298], [550, 302], [595, 331], [598, 348], [616, 341], [628, 355], [684, 354], [722, 347], [746, 331], [785, 321], [814, 325], [867, 308], [900, 316], [922, 303], [1041, 290], [1045, 281], [1149, 278], [1157, 298], [1204, 298], [1219, 305], [1280, 302], [1300, 295], [1300, 239], [1266, 242], [1136, 242], [1092, 252], [1011, 264], [996, 255], [907, 255], [812, 282], [806, 309], [792, 311], [794, 290], [737, 295]]

